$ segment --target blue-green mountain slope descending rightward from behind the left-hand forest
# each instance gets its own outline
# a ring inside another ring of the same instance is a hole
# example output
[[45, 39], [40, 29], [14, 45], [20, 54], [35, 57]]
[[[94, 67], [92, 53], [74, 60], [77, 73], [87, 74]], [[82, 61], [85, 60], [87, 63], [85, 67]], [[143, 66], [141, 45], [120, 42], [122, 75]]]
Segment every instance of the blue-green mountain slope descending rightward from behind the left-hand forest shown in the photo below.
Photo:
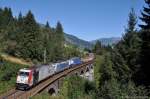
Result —
[[70, 35], [70, 34], [65, 33], [64, 35], [65, 35], [65, 41], [67, 44], [73, 44], [79, 48], [92, 49], [92, 46], [93, 46], [92, 43], [82, 40], [82, 39], [79, 39], [78, 37]]

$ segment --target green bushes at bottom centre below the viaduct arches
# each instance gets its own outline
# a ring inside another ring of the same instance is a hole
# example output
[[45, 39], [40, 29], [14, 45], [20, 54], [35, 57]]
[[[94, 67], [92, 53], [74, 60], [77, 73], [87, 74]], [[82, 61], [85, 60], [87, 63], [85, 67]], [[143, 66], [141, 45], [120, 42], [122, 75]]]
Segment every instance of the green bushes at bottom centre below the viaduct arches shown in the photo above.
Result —
[[64, 80], [63, 86], [60, 90], [60, 95], [64, 99], [85, 99], [88, 95], [94, 94], [95, 86], [93, 82], [88, 82], [81, 77], [72, 76]]

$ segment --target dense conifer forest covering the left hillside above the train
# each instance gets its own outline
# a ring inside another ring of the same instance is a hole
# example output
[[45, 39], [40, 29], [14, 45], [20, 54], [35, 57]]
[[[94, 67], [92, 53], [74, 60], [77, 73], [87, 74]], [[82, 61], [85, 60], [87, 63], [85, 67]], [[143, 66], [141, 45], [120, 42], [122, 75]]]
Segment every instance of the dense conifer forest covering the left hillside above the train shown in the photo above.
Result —
[[41, 26], [31, 11], [25, 16], [20, 13], [18, 17], [13, 17], [11, 8], [0, 8], [0, 35], [0, 52], [33, 63], [55, 62], [81, 54], [76, 47], [72, 50], [72, 45], [65, 48], [60, 22], [55, 28], [48, 22]]

